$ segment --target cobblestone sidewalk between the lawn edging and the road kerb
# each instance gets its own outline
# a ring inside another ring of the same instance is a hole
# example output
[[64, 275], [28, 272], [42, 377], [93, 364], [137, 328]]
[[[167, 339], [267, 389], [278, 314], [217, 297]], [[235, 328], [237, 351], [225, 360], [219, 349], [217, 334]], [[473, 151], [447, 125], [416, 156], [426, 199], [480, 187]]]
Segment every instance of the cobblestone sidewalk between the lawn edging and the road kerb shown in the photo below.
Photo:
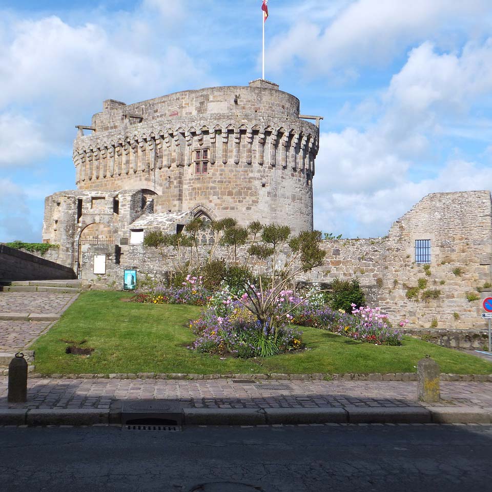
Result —
[[[287, 389], [267, 389], [270, 385]], [[264, 388], [262, 388], [262, 386]], [[492, 383], [441, 382], [436, 406], [492, 407]], [[195, 408], [315, 408], [419, 406], [417, 383], [402, 381], [30, 379], [28, 402], [7, 403], [7, 377], [0, 378], [0, 408], [109, 408], [113, 400], [181, 400]]]

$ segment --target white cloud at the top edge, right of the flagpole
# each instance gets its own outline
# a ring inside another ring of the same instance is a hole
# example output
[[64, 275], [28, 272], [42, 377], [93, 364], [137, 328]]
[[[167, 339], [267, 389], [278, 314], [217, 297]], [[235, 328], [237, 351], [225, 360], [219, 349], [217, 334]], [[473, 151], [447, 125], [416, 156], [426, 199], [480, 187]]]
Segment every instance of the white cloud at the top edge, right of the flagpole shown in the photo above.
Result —
[[[485, 0], [358, 0], [325, 29], [301, 17], [289, 32], [272, 39], [270, 70], [290, 70], [294, 59], [307, 64], [315, 77], [335, 68], [378, 66], [423, 39], [446, 45], [453, 43], [455, 32], [478, 31], [477, 14], [488, 13]], [[449, 25], [452, 35], [446, 32]]]

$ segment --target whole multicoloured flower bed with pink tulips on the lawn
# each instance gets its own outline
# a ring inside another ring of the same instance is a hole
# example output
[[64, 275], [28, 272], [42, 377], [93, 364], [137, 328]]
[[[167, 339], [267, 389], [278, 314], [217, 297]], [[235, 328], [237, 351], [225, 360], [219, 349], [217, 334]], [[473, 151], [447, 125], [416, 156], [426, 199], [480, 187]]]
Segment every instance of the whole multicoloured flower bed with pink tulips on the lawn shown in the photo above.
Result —
[[[268, 296], [265, 292], [263, 295]], [[357, 307], [352, 313], [335, 311], [325, 305], [322, 293], [315, 290], [299, 297], [290, 290], [281, 291], [274, 300], [274, 310], [261, 322], [248, 308], [247, 294], [231, 295], [227, 285], [212, 293], [203, 286], [202, 277], [188, 275], [182, 288], [155, 286], [137, 292], [134, 302], [153, 304], [193, 304], [206, 306], [202, 316], [190, 323], [197, 336], [192, 350], [222, 357], [265, 357], [304, 348], [302, 332], [296, 328], [312, 326], [341, 336], [376, 345], [401, 345], [402, 333], [394, 330], [379, 308]], [[260, 295], [255, 292], [255, 295]], [[408, 321], [401, 321], [405, 326]]]

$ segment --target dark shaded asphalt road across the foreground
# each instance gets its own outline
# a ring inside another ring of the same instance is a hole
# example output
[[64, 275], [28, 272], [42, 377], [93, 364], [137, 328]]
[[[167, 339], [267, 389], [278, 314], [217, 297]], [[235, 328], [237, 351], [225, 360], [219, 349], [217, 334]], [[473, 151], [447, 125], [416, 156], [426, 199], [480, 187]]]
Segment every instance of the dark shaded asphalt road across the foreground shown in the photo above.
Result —
[[492, 426], [0, 428], [3, 492], [486, 492], [491, 484]]

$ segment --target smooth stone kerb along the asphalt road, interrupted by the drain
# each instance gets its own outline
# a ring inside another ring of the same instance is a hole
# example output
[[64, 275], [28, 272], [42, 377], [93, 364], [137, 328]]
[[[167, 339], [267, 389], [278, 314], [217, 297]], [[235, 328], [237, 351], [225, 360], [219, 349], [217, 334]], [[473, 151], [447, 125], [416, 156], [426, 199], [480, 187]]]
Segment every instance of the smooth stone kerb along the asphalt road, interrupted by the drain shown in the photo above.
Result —
[[[0, 409], [0, 425], [119, 424], [121, 414], [97, 408]], [[490, 424], [492, 408], [184, 408], [183, 425]]]

